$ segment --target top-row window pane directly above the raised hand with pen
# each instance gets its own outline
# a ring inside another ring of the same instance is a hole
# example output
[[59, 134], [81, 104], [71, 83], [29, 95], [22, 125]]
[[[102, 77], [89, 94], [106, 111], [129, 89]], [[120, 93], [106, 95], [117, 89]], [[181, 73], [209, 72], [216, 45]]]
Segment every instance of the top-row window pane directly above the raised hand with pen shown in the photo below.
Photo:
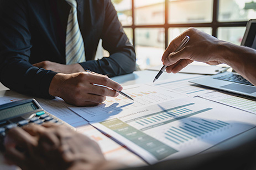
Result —
[[169, 0], [169, 23], [211, 23], [213, 0]]

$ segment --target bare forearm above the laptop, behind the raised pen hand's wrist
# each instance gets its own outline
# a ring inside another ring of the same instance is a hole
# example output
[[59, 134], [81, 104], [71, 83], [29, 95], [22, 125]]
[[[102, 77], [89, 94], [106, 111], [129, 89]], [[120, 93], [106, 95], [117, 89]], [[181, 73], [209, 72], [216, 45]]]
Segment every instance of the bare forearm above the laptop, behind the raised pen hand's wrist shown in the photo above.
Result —
[[256, 51], [253, 48], [222, 42], [221, 57], [225, 64], [230, 65], [250, 83], [256, 85]]

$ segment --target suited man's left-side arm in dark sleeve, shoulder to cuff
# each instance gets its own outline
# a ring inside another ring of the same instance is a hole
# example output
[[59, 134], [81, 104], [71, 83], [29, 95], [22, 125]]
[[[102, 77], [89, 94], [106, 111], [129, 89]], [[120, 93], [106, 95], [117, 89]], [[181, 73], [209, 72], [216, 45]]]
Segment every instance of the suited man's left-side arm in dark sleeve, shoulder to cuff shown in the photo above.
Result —
[[3, 1], [0, 15], [0, 80], [12, 90], [49, 97], [55, 72], [29, 63], [32, 37], [27, 1]]

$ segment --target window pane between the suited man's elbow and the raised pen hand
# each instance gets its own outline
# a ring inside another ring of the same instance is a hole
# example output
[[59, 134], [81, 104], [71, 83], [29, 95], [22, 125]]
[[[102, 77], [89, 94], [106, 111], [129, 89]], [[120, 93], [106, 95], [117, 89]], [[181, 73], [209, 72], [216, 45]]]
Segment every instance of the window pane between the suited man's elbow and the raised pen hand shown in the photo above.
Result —
[[164, 28], [135, 29], [135, 49], [140, 69], [161, 65], [164, 53]]

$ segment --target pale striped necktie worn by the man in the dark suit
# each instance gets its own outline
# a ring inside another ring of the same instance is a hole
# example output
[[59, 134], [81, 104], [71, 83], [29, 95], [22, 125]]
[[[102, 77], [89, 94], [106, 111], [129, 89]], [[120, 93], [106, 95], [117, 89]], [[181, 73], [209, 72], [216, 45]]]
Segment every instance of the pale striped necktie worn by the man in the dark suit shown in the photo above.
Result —
[[66, 0], [71, 9], [66, 30], [66, 64], [85, 62], [85, 47], [77, 20], [76, 0]]

